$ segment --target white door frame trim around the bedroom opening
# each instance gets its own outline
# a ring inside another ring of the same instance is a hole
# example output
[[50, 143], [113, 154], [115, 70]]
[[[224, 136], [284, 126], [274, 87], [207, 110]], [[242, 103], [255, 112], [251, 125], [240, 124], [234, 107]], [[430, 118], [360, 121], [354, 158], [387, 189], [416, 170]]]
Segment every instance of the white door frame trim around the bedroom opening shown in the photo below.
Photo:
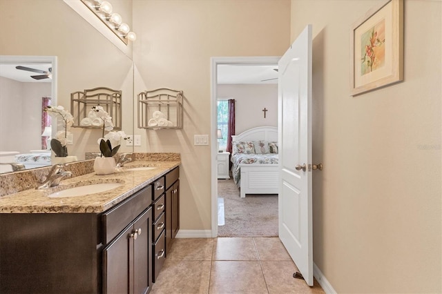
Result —
[[218, 155], [218, 144], [216, 130], [217, 126], [217, 95], [218, 92], [218, 65], [254, 65], [267, 66], [277, 65], [280, 57], [262, 56], [262, 57], [211, 57], [211, 235], [213, 238], [218, 236], [218, 179], [216, 177], [216, 156]]

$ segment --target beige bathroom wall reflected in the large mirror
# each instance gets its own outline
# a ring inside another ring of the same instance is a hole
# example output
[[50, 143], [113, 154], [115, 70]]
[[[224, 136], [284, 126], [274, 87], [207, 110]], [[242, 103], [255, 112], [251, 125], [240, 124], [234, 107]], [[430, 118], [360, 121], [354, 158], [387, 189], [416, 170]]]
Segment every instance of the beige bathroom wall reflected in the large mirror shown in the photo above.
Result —
[[[115, 5], [126, 17], [131, 6], [123, 9], [125, 3], [118, 1]], [[131, 19], [125, 19], [131, 23]], [[0, 0], [0, 27], [7, 32], [0, 35], [0, 55], [57, 56], [57, 105], [70, 109], [71, 92], [97, 87], [121, 89], [126, 113], [123, 128], [127, 134], [132, 133], [131, 58], [64, 1]], [[68, 146], [69, 155], [84, 159], [86, 151], [99, 152], [97, 139], [102, 137], [101, 130], [73, 128], [71, 131], [74, 146]], [[3, 139], [2, 135], [0, 139]], [[131, 152], [132, 149], [122, 146], [120, 150]]]

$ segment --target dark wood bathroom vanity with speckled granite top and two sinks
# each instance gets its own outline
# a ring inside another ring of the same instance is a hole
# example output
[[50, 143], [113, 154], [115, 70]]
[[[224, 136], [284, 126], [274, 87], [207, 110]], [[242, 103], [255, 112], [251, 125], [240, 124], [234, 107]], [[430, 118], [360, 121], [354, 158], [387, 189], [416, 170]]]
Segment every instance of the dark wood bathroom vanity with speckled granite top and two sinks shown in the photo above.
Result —
[[[0, 293], [148, 293], [179, 229], [179, 164], [135, 161], [0, 197]], [[121, 186], [48, 197], [103, 182]]]

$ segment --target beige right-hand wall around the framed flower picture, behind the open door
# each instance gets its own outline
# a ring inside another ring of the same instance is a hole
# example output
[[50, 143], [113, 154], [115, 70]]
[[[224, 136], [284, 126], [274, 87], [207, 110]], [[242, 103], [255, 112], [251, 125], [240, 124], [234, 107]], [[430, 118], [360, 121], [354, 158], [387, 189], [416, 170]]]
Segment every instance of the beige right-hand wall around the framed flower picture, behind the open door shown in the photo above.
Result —
[[383, 1], [291, 2], [313, 24], [314, 262], [338, 293], [441, 293], [441, 1], [405, 1], [405, 81], [349, 96], [349, 28]]

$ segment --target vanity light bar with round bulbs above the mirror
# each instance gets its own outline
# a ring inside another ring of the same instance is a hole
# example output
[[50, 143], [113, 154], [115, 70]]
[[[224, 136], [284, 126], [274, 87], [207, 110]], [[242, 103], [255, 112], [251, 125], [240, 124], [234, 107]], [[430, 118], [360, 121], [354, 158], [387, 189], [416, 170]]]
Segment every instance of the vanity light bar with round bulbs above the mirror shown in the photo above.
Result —
[[99, 19], [111, 29], [124, 43], [135, 41], [137, 35], [131, 32], [127, 23], [123, 23], [120, 14], [113, 11], [112, 4], [103, 0], [81, 0]]

